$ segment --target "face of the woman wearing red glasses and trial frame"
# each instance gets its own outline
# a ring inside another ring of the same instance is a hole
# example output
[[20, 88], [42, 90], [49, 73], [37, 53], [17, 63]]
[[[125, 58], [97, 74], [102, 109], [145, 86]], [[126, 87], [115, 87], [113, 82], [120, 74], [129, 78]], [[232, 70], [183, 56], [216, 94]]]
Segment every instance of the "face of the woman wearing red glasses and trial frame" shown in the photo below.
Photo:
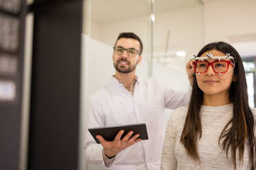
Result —
[[[213, 53], [213, 56], [226, 56], [222, 51], [212, 49], [202, 53], [200, 57], [205, 57], [206, 53]], [[213, 62], [214, 60], [215, 59], [209, 59], [207, 61]], [[196, 73], [195, 76], [199, 88], [205, 95], [227, 95], [228, 89], [233, 81], [233, 66], [230, 64], [227, 73], [223, 73], [222, 75], [215, 73], [213, 68], [209, 66], [205, 73]]]

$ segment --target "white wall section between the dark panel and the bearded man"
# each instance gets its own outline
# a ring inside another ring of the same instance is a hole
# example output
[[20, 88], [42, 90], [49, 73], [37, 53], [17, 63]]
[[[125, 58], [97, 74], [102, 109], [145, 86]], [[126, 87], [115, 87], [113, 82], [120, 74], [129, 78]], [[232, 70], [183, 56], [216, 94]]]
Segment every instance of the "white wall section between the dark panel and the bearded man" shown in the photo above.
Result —
[[[99, 170], [100, 167], [85, 164], [85, 131], [86, 108], [88, 96], [103, 88], [114, 74], [112, 66], [111, 47], [103, 42], [93, 40], [82, 35], [82, 63], [81, 63], [81, 117], [80, 117], [80, 145], [79, 145], [79, 169]], [[86, 167], [87, 166], [87, 167]], [[86, 167], [86, 168], [85, 168]]]

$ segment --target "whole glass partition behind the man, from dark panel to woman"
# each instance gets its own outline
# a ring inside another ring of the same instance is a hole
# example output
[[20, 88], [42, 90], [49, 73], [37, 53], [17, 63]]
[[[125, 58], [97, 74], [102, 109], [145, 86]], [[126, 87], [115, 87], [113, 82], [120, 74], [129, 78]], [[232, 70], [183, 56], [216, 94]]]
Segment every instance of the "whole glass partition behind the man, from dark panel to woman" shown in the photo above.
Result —
[[[185, 64], [202, 47], [204, 39], [201, 1], [85, 0], [83, 17], [83, 113], [88, 95], [105, 86], [115, 73], [112, 47], [120, 32], [134, 32], [142, 40], [138, 76], [156, 77], [178, 90], [188, 89]], [[102, 169], [89, 164], [86, 167]]]

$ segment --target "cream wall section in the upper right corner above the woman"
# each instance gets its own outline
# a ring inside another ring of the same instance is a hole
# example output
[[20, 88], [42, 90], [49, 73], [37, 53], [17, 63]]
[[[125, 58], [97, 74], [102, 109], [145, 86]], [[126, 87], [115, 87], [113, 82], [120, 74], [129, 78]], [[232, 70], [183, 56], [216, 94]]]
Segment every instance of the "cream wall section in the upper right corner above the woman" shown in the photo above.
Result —
[[255, 0], [222, 0], [204, 3], [204, 42], [231, 42], [230, 37], [256, 34]]

